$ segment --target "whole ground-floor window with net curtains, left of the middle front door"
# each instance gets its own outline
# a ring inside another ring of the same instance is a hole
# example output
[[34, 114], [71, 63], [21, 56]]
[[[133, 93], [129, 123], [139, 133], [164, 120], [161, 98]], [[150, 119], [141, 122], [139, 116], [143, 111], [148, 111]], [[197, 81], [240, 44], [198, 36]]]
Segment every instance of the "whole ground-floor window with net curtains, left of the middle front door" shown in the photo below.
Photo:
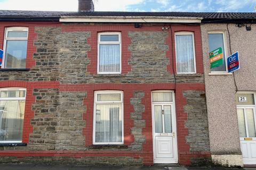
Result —
[[123, 144], [123, 91], [95, 91], [93, 144]]

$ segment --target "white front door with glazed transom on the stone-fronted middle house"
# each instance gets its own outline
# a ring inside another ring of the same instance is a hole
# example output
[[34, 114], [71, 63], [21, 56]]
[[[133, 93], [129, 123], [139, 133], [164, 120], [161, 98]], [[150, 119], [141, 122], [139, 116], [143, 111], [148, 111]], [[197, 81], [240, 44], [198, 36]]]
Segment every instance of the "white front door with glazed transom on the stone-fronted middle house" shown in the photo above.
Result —
[[174, 94], [152, 93], [154, 163], [178, 163]]

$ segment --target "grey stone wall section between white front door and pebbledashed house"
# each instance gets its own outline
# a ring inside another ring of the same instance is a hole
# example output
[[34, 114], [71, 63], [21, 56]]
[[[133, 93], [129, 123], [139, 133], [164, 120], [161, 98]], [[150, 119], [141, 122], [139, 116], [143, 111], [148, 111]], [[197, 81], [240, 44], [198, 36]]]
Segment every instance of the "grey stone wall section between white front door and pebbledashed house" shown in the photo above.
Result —
[[[188, 128], [186, 141], [190, 146], [190, 152], [210, 151], [208, 119], [205, 91], [187, 90], [183, 92], [187, 104], [184, 111], [188, 113], [185, 125]], [[210, 158], [192, 158], [191, 165], [210, 165]]]

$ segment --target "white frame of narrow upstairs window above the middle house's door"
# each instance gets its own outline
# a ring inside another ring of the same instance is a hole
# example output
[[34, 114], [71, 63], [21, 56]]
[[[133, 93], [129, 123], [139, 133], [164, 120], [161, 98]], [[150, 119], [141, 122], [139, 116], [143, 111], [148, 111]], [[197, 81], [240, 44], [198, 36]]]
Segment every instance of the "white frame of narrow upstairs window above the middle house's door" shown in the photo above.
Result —
[[[176, 48], [176, 36], [179, 35], [192, 35], [193, 39], [193, 57], [194, 57], [194, 72], [188, 72], [188, 73], [178, 73], [178, 64], [177, 64], [177, 48]], [[196, 50], [195, 50], [195, 36], [194, 32], [191, 31], [178, 31], [174, 33], [174, 44], [175, 44], [175, 61], [176, 61], [176, 72], [177, 74], [196, 74]]]

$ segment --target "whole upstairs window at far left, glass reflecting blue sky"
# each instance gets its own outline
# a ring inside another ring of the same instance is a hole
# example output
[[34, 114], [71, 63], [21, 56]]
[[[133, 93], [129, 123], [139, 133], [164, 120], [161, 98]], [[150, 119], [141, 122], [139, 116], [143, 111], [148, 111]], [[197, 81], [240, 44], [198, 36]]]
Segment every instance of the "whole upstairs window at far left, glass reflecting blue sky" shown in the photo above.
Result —
[[5, 29], [3, 68], [26, 68], [28, 28], [12, 27]]

